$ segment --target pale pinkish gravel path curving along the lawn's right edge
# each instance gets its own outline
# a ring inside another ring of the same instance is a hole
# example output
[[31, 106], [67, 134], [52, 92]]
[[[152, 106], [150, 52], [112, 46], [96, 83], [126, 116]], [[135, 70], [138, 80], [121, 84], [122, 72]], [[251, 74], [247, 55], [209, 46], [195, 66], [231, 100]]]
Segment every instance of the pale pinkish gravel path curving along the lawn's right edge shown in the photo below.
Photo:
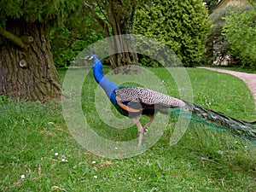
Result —
[[205, 68], [212, 71], [217, 71], [221, 73], [229, 73], [231, 75], [236, 76], [237, 78], [243, 80], [245, 84], [247, 84], [248, 88], [251, 90], [254, 98], [254, 103], [256, 105], [256, 74], [253, 73], [241, 73], [241, 72], [234, 72], [230, 70], [220, 69], [220, 68], [212, 68], [212, 67], [198, 67], [198, 68]]

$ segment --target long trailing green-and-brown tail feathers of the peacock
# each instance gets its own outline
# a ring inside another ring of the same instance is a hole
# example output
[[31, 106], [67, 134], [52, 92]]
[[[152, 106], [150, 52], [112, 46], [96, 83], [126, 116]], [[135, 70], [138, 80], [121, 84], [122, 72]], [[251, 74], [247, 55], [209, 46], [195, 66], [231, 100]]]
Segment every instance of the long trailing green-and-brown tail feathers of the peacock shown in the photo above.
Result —
[[[181, 114], [189, 112], [192, 114], [191, 118], [193, 120], [206, 124], [214, 130], [228, 131], [256, 146], [256, 121], [248, 122], [234, 119], [224, 113], [203, 108], [190, 102], [186, 102], [183, 108], [176, 108], [176, 112], [177, 111]], [[186, 115], [183, 115], [183, 117], [186, 117]]]

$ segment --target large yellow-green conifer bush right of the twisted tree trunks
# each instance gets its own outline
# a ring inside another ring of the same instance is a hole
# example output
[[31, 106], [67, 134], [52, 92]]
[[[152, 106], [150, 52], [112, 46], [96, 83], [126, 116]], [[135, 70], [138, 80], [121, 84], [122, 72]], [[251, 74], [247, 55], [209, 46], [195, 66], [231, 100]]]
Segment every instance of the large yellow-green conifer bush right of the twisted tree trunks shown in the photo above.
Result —
[[[208, 29], [207, 9], [201, 0], [154, 0], [137, 9], [134, 26], [136, 34], [170, 46], [186, 67], [201, 62]], [[158, 65], [148, 58], [143, 61]]]

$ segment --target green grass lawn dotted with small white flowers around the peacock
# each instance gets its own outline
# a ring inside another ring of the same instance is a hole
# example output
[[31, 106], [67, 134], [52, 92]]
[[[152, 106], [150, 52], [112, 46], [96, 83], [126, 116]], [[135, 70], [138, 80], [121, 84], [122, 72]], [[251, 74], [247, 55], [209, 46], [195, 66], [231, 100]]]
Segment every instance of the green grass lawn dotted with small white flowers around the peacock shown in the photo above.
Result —
[[[104, 68], [104, 72], [109, 70]], [[177, 86], [164, 68], [150, 70], [165, 82], [168, 94], [178, 96]], [[256, 119], [253, 96], [240, 79], [203, 69], [187, 71], [195, 103], [237, 119]], [[61, 81], [65, 73], [60, 71]], [[119, 78], [128, 81], [136, 75], [110, 77]], [[115, 130], [99, 120], [95, 90], [90, 73], [84, 82], [82, 103], [93, 129], [102, 137], [121, 141], [137, 137], [135, 126]], [[170, 147], [171, 120], [152, 148], [132, 158], [112, 160], [91, 154], [75, 141], [58, 102], [15, 103], [1, 97], [0, 114], [1, 191], [256, 190], [255, 148], [198, 123], [189, 125], [179, 143]], [[61, 154], [68, 162], [61, 162]], [[25, 178], [20, 179], [23, 174]]]

